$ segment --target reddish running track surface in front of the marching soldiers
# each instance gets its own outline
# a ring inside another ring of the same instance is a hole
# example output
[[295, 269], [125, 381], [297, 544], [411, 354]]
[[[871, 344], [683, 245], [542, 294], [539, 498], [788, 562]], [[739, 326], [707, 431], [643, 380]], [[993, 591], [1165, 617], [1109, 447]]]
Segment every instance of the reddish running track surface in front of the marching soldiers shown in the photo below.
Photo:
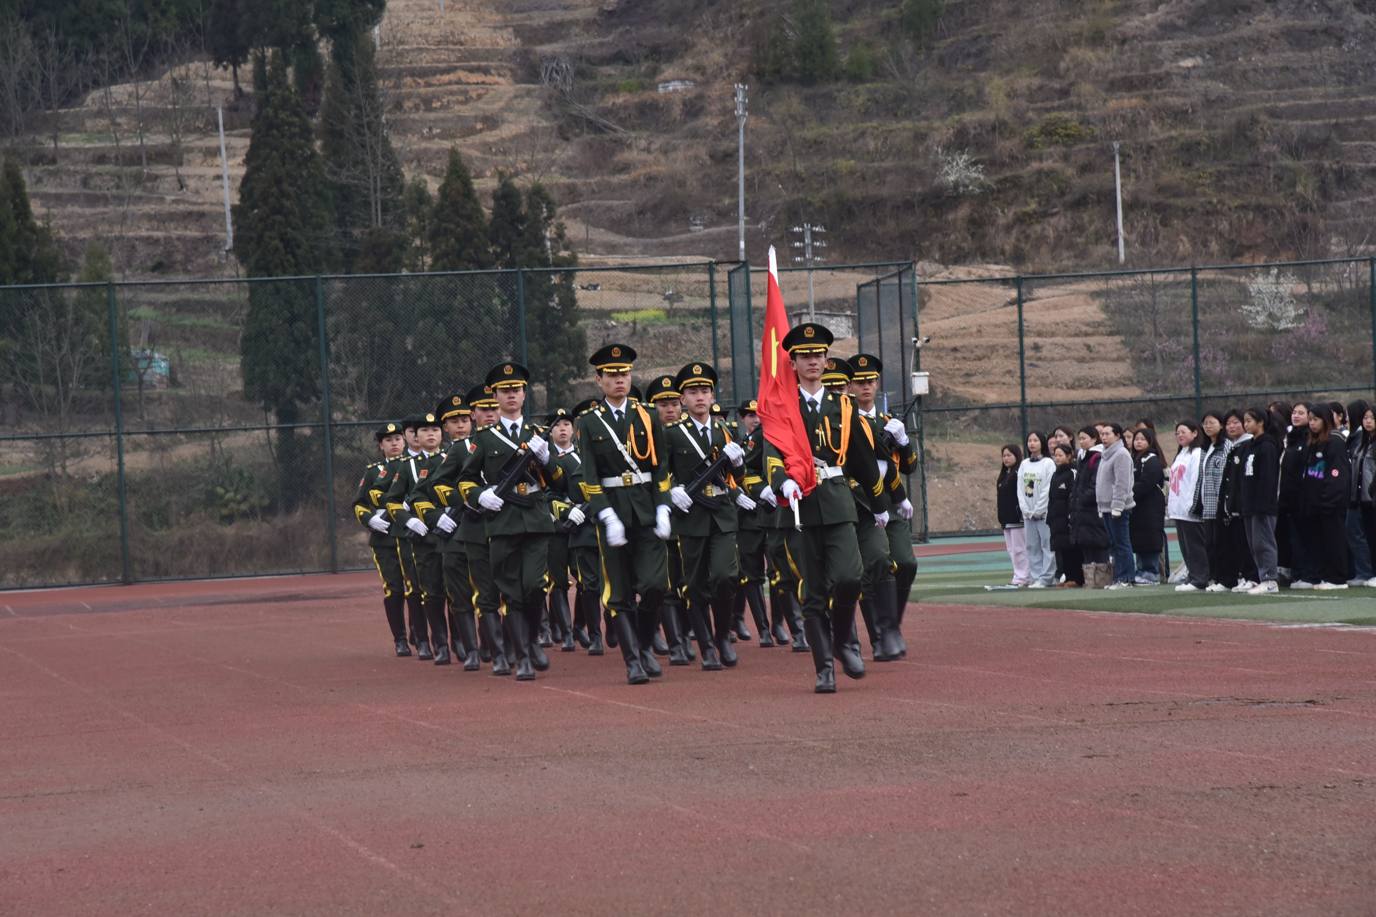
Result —
[[910, 606], [817, 697], [399, 660], [367, 576], [0, 609], [7, 917], [1376, 913], [1370, 631]]

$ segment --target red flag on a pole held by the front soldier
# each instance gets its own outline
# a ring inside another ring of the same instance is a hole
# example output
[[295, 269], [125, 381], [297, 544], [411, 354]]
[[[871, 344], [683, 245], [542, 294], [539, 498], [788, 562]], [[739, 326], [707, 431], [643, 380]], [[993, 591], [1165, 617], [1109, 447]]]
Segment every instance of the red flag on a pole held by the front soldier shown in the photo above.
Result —
[[804, 496], [817, 485], [812, 465], [808, 428], [798, 410], [798, 374], [793, 371], [783, 338], [788, 334], [788, 313], [779, 290], [779, 265], [769, 246], [769, 294], [765, 298], [765, 327], [760, 342], [760, 425], [765, 439], [783, 455], [788, 477], [802, 488]]

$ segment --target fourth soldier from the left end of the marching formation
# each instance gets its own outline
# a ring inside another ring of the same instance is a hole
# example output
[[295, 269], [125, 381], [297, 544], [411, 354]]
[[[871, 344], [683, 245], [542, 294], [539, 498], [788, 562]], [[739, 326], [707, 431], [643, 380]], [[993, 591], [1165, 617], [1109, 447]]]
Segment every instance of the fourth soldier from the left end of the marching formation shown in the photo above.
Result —
[[[425, 488], [429, 492], [433, 513], [421, 521], [431, 527], [439, 539], [440, 566], [444, 576], [444, 594], [449, 598], [449, 626], [454, 653], [464, 657], [464, 671], [476, 672], [482, 668], [477, 654], [477, 623], [475, 619], [473, 588], [471, 586], [468, 546], [460, 535], [464, 516], [468, 513], [457, 496], [458, 472], [472, 452], [471, 428], [472, 408], [461, 395], [443, 399], [435, 408], [450, 443], [444, 458], [433, 474], [427, 476]], [[461, 421], [461, 422], [460, 422]]]

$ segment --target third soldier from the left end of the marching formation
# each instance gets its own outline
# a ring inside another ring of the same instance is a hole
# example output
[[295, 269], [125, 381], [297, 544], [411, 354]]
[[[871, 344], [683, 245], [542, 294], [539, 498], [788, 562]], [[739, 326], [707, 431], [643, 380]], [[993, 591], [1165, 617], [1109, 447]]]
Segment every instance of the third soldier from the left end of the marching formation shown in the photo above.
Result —
[[449, 665], [451, 657], [444, 610], [444, 564], [439, 554], [439, 538], [424, 521], [427, 514], [436, 514], [425, 484], [427, 477], [444, 461], [444, 454], [439, 451], [442, 436], [439, 419], [433, 414], [422, 414], [416, 421], [416, 444], [420, 445], [421, 455], [400, 459], [392, 485], [383, 499], [392, 524], [398, 527], [398, 535], [410, 542], [416, 558], [416, 586], [421, 593], [424, 623], [429, 626], [428, 638], [417, 627], [417, 656], [422, 660], [433, 659], [436, 665]]

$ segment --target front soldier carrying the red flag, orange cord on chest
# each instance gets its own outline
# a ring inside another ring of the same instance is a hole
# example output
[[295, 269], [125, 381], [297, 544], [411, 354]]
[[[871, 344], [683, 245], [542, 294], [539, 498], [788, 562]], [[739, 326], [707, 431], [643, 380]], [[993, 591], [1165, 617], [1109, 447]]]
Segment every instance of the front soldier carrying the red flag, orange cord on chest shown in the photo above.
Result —
[[[802, 619], [812, 646], [819, 694], [837, 690], [832, 659], [850, 678], [864, 678], [864, 660], [846, 641], [854, 627], [863, 565], [856, 539], [856, 498], [859, 489], [871, 516], [888, 518], [889, 500], [879, 480], [874, 448], [860, 432], [860, 412], [846, 395], [827, 392], [821, 385], [831, 331], [804, 323], [783, 340], [798, 374], [798, 410], [808, 430], [817, 485], [806, 496], [784, 470], [783, 455], [765, 444], [765, 467], [771, 489], [779, 495], [780, 514], [791, 516], [797, 503], [802, 521], [799, 554], [790, 561], [799, 580]], [[768, 430], [765, 432], [768, 436]], [[875, 520], [878, 521], [878, 520]]]

